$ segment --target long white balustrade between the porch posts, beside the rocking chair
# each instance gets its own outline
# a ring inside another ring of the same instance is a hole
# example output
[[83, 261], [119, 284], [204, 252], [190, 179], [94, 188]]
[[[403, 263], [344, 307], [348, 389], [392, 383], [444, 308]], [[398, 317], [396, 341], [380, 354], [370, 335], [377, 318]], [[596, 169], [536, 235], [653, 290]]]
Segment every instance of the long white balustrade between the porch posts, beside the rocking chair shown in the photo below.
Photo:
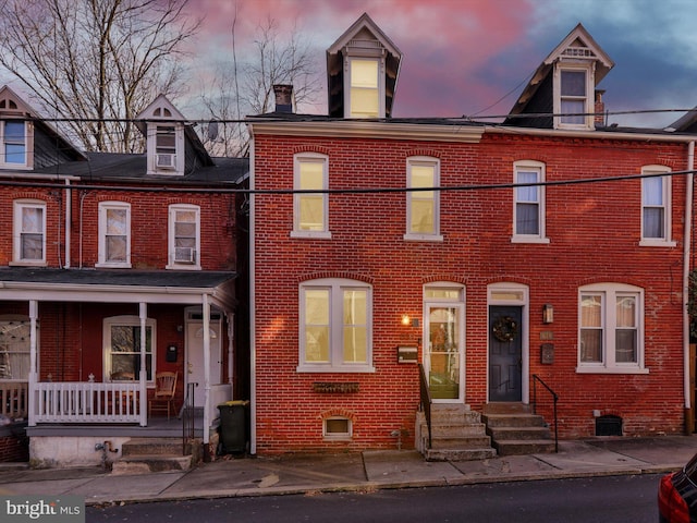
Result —
[[34, 384], [29, 425], [37, 423], [147, 424], [145, 387], [138, 381]]

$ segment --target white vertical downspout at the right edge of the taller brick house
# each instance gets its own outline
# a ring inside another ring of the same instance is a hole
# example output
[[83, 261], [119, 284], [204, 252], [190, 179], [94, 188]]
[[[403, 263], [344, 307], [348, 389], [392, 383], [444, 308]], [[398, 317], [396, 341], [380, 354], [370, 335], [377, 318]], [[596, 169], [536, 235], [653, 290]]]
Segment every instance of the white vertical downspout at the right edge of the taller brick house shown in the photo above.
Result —
[[[695, 169], [695, 142], [687, 145], [687, 170]], [[683, 392], [685, 394], [685, 431], [692, 434], [694, 427], [688, 427], [688, 419], [692, 419], [692, 386], [689, 378], [689, 248], [692, 243], [693, 222], [693, 193], [695, 174], [690, 172], [686, 178], [685, 187], [685, 234], [683, 239]]]

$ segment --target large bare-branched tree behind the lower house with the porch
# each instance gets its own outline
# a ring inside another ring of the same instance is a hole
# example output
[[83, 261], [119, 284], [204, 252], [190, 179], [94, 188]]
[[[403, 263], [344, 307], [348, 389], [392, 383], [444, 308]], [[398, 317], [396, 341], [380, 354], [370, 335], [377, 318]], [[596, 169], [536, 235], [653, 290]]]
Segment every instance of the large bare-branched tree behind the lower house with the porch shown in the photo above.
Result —
[[143, 150], [133, 119], [181, 89], [188, 0], [0, 0], [0, 64], [86, 150]]

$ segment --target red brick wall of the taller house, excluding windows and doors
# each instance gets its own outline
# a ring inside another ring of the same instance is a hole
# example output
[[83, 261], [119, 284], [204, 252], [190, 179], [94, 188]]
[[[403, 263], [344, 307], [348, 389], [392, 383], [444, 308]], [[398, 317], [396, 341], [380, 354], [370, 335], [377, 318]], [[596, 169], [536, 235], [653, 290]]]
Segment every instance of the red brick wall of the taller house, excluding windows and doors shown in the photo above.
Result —
[[[633, 141], [559, 139], [486, 134], [480, 144], [364, 138], [255, 138], [256, 188], [293, 188], [293, 155], [329, 156], [330, 188], [404, 187], [406, 158], [440, 159], [441, 185], [467, 187], [513, 181], [513, 162], [546, 163], [548, 181], [640, 173], [641, 166], [686, 166], [686, 146]], [[594, 435], [594, 410], [624, 419], [627, 435], [678, 433], [683, 426], [681, 264], [685, 181], [672, 181], [676, 247], [639, 247], [641, 182], [627, 180], [547, 188], [549, 244], [511, 242], [511, 188], [449, 191], [440, 196], [442, 242], [406, 242], [403, 193], [332, 194], [331, 240], [291, 239], [293, 196], [257, 195], [255, 224], [258, 452], [395, 448], [394, 429], [409, 431], [418, 399], [415, 365], [396, 363], [396, 345], [419, 342], [421, 329], [400, 325], [420, 317], [424, 284], [466, 288], [466, 398], [487, 401], [487, 285], [529, 287], [529, 370], [560, 394], [562, 437]], [[350, 277], [374, 289], [375, 373], [298, 373], [298, 284]], [[645, 290], [648, 374], [578, 374], [578, 288], [617, 282]], [[554, 323], [542, 325], [545, 303]], [[554, 363], [540, 364], [541, 331], [553, 331]], [[315, 381], [358, 382], [352, 393], [318, 393]], [[524, 385], [527, 387], [527, 385]], [[530, 386], [531, 387], [531, 386]], [[548, 405], [542, 405], [549, 415]], [[322, 418], [353, 421], [350, 441], [322, 438]]]

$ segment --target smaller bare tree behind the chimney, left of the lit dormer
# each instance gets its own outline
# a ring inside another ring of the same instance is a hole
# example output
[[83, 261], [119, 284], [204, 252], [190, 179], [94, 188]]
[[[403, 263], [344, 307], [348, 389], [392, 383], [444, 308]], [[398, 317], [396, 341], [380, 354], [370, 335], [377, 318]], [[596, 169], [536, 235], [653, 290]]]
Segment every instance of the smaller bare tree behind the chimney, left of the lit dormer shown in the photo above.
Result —
[[[310, 44], [296, 27], [283, 38], [279, 24], [272, 17], [257, 27], [254, 52], [248, 60], [237, 63], [235, 29], [237, 10], [231, 25], [232, 63], [221, 63], [215, 80], [201, 95], [204, 106], [213, 120], [228, 122], [218, 126], [213, 136], [204, 135], [208, 150], [216, 156], [243, 156], [249, 137], [241, 122], [248, 114], [273, 111], [273, 86], [293, 85], [295, 107], [310, 106], [320, 92], [320, 82]], [[207, 133], [204, 133], [207, 134]]]

